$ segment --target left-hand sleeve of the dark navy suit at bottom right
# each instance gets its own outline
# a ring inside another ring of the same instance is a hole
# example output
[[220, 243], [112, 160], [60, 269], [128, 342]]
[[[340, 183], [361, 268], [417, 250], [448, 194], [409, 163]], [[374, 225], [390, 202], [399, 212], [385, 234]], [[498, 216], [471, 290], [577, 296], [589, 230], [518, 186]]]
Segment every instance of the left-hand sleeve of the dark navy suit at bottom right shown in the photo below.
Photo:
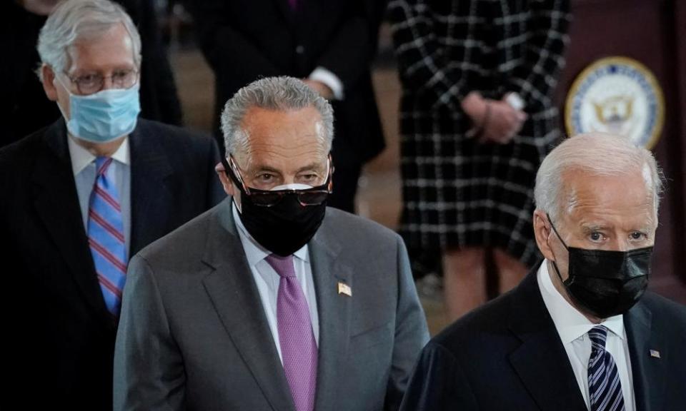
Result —
[[414, 368], [401, 411], [477, 411], [455, 357], [441, 345], [429, 342]]

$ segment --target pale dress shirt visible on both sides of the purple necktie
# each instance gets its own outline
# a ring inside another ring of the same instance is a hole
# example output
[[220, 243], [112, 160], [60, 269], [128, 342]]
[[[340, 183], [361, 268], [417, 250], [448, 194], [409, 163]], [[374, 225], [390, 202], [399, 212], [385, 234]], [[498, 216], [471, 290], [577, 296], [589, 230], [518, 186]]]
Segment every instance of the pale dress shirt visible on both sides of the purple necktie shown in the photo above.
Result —
[[[234, 213], [234, 222], [238, 228], [238, 235], [241, 238], [250, 271], [252, 271], [252, 276], [257, 285], [259, 299], [262, 300], [262, 307], [267, 315], [267, 323], [269, 323], [269, 330], [272, 331], [274, 345], [277, 346], [277, 352], [279, 352], [279, 360], [283, 364], [284, 359], [281, 354], [281, 345], [279, 344], [279, 326], [277, 323], [277, 297], [279, 296], [281, 277], [264, 259], [271, 252], [262, 247], [262, 245], [259, 245], [243, 225], [236, 208], [236, 203], [232, 203], [232, 212]], [[309, 318], [312, 320], [314, 341], [319, 346], [319, 313], [317, 313], [317, 296], [314, 293], [314, 279], [312, 278], [312, 267], [309, 263], [307, 244], [293, 253], [293, 257], [295, 276], [305, 295], [305, 300], [307, 300]]]

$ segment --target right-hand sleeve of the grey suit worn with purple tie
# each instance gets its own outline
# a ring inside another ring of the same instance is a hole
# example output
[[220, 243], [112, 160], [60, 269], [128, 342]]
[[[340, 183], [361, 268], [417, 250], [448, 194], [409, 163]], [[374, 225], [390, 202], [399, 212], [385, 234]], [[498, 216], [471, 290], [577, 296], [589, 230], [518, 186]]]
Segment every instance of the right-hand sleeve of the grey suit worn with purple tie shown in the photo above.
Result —
[[414, 288], [407, 250], [397, 237], [398, 305], [395, 324], [392, 368], [384, 410], [397, 410], [407, 387], [412, 366], [429, 340], [424, 310]]

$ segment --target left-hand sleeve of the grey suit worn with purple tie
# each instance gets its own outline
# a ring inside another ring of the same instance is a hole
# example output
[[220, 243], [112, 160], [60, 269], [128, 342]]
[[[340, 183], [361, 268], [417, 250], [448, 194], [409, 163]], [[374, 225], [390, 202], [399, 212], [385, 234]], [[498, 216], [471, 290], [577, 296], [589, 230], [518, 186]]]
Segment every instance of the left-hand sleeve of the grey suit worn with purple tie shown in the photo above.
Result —
[[136, 255], [122, 299], [114, 349], [114, 410], [184, 410], [184, 365], [154, 273]]

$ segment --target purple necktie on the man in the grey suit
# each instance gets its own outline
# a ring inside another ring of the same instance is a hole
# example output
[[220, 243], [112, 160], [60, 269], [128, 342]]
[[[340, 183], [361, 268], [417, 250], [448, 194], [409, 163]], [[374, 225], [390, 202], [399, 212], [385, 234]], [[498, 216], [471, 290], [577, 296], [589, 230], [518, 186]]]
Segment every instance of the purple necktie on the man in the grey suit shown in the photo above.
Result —
[[317, 390], [317, 343], [307, 300], [295, 277], [292, 255], [271, 254], [265, 260], [281, 277], [277, 297], [279, 345], [295, 409], [312, 411]]

